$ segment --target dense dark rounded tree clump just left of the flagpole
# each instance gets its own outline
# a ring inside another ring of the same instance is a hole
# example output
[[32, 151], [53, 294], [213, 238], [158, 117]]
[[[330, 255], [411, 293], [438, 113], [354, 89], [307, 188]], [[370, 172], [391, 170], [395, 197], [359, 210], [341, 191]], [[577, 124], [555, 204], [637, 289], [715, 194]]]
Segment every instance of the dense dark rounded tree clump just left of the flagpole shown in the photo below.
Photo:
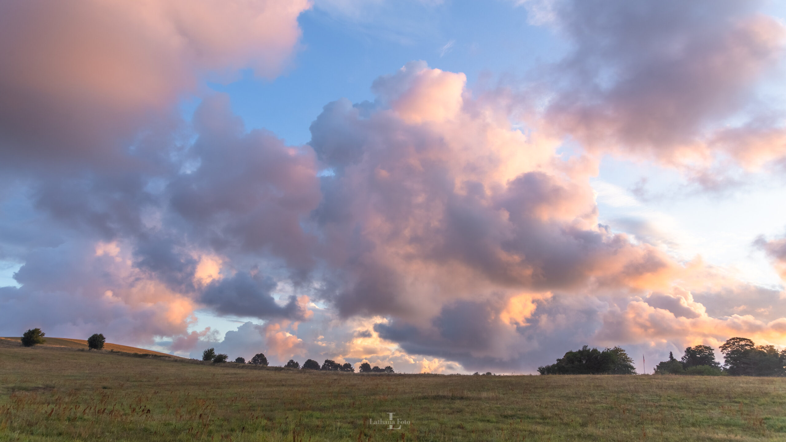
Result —
[[567, 352], [556, 363], [539, 366], [540, 374], [636, 374], [634, 361], [623, 348], [606, 348], [603, 352], [585, 345]]

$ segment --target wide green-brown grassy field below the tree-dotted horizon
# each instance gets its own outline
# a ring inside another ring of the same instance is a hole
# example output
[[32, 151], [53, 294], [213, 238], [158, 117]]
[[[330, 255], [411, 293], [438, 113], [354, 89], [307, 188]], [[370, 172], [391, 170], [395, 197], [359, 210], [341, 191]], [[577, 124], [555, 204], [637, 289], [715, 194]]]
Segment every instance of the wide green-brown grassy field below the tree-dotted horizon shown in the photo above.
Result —
[[[319, 373], [0, 341], [0, 440], [786, 440], [784, 405], [783, 378]], [[387, 413], [409, 423], [369, 422]]]

